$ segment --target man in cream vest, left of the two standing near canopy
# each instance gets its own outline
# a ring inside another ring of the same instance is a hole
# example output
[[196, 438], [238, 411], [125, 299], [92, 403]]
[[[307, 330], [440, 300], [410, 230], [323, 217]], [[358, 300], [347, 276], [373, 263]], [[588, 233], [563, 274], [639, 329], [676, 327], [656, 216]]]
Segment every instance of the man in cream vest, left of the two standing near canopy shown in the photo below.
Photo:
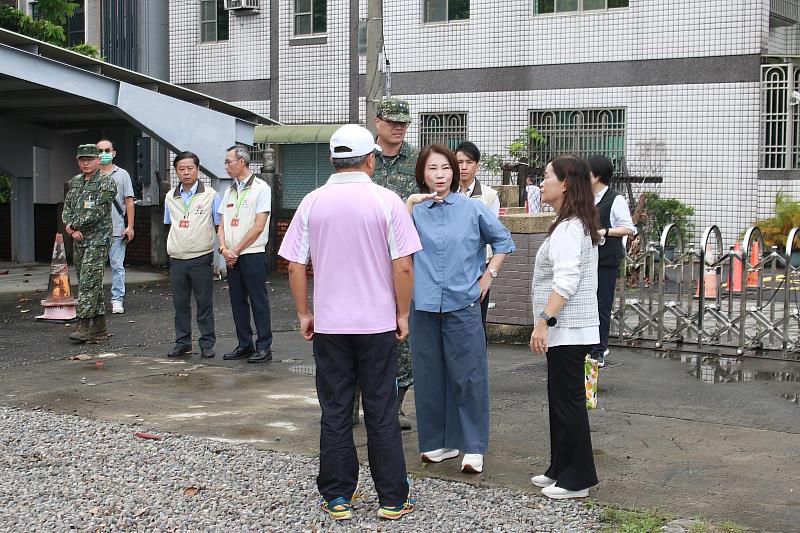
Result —
[[214, 357], [214, 234], [219, 226], [217, 192], [197, 179], [200, 158], [181, 152], [172, 162], [181, 184], [164, 198], [164, 224], [169, 224], [167, 253], [172, 303], [175, 307], [175, 347], [168, 357], [192, 354], [192, 306], [197, 302], [200, 354]]

